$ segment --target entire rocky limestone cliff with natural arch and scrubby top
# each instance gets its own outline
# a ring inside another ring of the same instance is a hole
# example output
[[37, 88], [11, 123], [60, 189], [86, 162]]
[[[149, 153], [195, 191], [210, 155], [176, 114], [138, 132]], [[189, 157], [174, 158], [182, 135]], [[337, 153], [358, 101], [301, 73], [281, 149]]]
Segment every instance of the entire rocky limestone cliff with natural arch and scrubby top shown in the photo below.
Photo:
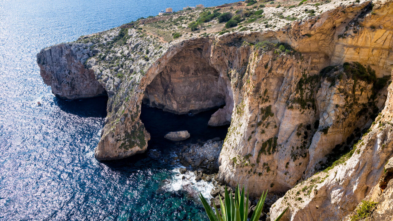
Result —
[[[206, 10], [214, 13], [209, 8], [131, 22], [43, 49], [37, 63], [57, 96], [107, 93], [98, 160], [147, 149], [141, 103], [177, 114], [223, 106], [209, 121], [230, 123], [219, 158], [222, 181], [244, 184], [251, 195], [286, 192], [272, 214], [290, 203], [296, 205], [291, 220], [307, 213], [309, 205], [312, 214], [326, 213], [323, 219], [331, 213], [338, 217], [334, 211], [353, 210], [376, 185], [382, 162], [391, 155], [390, 132], [384, 129], [389, 124], [375, 128], [381, 119], [389, 122], [384, 112], [371, 132], [364, 131], [388, 94], [393, 2], [277, 3], [222, 9], [242, 22], [232, 29], [204, 17]], [[204, 21], [196, 26], [199, 31], [186, 29], [196, 18]], [[196, 37], [202, 29], [206, 32]], [[358, 153], [353, 145], [360, 137], [364, 144], [355, 145]], [[377, 144], [385, 149], [379, 151]], [[337, 156], [350, 151], [344, 155], [349, 167], [336, 163], [330, 169]], [[304, 197], [296, 195], [299, 188], [305, 188], [299, 193]], [[299, 197], [304, 199], [294, 201]]]

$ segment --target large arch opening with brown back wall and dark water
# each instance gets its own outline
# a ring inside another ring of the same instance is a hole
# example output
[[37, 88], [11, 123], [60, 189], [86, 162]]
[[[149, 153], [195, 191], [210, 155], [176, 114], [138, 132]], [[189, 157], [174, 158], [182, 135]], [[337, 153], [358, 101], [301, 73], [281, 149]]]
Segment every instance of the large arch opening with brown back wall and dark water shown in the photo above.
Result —
[[210, 64], [209, 44], [178, 52], [145, 88], [141, 121], [151, 134], [149, 147], [173, 144], [164, 135], [189, 131], [184, 142], [224, 139], [231, 121], [233, 98], [227, 75]]

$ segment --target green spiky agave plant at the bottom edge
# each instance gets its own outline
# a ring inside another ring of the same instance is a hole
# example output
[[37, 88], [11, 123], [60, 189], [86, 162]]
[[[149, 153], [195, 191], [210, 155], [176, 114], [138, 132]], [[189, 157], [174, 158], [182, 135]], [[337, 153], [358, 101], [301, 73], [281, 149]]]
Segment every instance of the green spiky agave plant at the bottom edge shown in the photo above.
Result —
[[[267, 195], [267, 191], [262, 193], [261, 198], [259, 199], [257, 206], [252, 214], [250, 221], [257, 221], [261, 216], [263, 205], [265, 204], [265, 199]], [[221, 214], [217, 210], [217, 206], [213, 203], [213, 209], [209, 206], [208, 201], [206, 201], [205, 197], [199, 193], [199, 198], [202, 201], [203, 207], [205, 208], [206, 213], [208, 214], [210, 221], [247, 221], [248, 216], [248, 191], [247, 197], [244, 200], [244, 187], [242, 191], [239, 191], [239, 184], [235, 190], [235, 199], [233, 199], [232, 194], [229, 195], [228, 190], [225, 186], [225, 197], [224, 202], [222, 202], [220, 197], [220, 207]], [[279, 221], [281, 217], [283, 217], [284, 213], [288, 210], [288, 207], [274, 220]]]

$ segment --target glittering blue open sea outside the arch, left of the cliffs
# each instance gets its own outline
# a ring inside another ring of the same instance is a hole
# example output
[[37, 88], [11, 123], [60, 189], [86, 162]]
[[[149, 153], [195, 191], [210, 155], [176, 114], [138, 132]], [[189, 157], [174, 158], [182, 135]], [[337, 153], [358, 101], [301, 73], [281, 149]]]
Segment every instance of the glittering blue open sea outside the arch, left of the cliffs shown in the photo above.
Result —
[[55, 98], [35, 55], [165, 7], [228, 2], [0, 0], [0, 220], [206, 220], [176, 166], [163, 159], [97, 162], [105, 98]]

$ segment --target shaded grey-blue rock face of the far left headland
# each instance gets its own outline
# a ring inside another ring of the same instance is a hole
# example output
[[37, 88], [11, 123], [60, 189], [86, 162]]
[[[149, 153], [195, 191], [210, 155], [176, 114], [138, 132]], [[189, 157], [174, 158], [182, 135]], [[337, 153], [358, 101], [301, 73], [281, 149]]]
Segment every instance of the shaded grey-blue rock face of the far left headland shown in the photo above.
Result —
[[92, 44], [57, 44], [37, 54], [44, 83], [59, 98], [80, 99], [106, 95], [93, 70], [84, 63], [94, 55]]

